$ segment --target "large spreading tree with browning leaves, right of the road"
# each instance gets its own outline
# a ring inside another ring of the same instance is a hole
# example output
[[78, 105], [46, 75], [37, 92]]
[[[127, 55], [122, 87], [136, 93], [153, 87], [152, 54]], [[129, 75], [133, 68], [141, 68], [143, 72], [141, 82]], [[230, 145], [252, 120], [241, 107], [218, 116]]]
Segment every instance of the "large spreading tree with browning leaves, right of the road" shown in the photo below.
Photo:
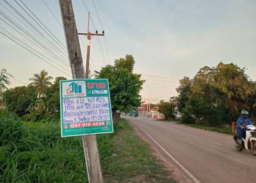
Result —
[[254, 117], [255, 88], [245, 68], [233, 63], [200, 68], [193, 79], [181, 79], [177, 88], [183, 121], [221, 125], [235, 121], [241, 109], [248, 109]]

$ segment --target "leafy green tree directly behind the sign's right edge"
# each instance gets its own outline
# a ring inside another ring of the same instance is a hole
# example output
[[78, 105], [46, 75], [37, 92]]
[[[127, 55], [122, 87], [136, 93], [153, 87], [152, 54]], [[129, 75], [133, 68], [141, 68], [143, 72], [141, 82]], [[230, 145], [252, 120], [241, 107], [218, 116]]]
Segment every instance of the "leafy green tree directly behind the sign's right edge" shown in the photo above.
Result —
[[132, 73], [134, 67], [132, 55], [115, 60], [115, 65], [107, 65], [97, 72], [97, 78], [109, 80], [111, 107], [113, 110], [130, 111], [140, 106], [143, 82], [140, 74]]

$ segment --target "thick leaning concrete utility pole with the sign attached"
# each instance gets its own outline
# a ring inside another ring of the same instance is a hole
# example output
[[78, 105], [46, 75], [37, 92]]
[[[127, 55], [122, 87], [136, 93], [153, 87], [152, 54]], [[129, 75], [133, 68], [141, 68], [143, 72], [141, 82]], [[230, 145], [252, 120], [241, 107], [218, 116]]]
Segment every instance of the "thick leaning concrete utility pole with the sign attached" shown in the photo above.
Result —
[[[65, 30], [68, 57], [73, 79], [84, 79], [83, 58], [77, 36], [76, 20], [72, 7], [72, 0], [60, 0], [60, 10]], [[86, 78], [88, 78], [89, 61], [86, 63]], [[88, 173], [88, 180], [92, 183], [103, 183], [100, 167], [99, 150], [96, 136], [82, 136], [84, 156]]]

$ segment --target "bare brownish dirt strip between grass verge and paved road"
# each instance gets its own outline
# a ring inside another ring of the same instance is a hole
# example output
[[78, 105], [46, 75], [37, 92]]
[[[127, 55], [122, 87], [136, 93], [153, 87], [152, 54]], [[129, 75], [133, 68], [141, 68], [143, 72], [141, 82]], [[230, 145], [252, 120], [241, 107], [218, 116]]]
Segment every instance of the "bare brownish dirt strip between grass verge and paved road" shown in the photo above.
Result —
[[134, 123], [132, 123], [132, 127], [134, 129], [134, 132], [142, 139], [143, 141], [146, 141], [150, 145], [150, 149], [152, 150], [152, 154], [157, 157], [157, 160], [163, 164], [164, 169], [168, 171], [170, 174], [170, 177], [172, 179], [175, 179], [179, 183], [192, 183], [193, 180], [191, 180], [186, 173], [183, 173], [182, 171], [177, 168], [174, 163], [172, 163], [172, 160], [170, 160], [170, 157], [168, 157], [162, 150], [159, 149], [159, 147], [152, 142], [141, 129], [136, 127]]

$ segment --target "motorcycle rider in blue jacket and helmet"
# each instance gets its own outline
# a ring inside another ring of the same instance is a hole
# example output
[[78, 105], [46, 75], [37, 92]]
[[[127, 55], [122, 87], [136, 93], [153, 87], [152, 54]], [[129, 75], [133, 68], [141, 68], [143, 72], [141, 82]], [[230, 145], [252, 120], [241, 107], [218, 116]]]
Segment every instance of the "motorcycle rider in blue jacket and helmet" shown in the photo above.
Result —
[[242, 143], [243, 136], [246, 135], [246, 125], [252, 125], [250, 118], [248, 118], [249, 113], [246, 110], [241, 111], [241, 116], [237, 119], [237, 133], [238, 141]]

